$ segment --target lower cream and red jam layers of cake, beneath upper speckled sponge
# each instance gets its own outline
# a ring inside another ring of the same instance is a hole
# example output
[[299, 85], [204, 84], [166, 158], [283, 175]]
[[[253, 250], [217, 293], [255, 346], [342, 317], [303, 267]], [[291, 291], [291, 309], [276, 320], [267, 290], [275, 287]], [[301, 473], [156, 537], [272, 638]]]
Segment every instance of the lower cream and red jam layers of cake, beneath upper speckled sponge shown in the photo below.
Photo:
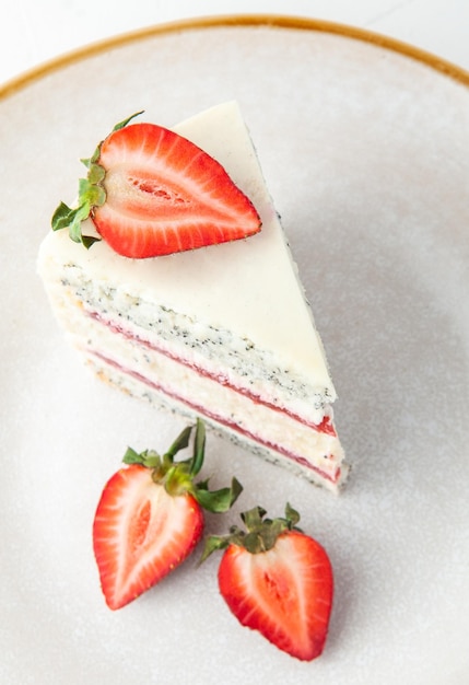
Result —
[[122, 323], [110, 323], [104, 314], [86, 314], [87, 303], [68, 287], [52, 287], [49, 294], [54, 294], [69, 341], [113, 385], [152, 404], [176, 403], [184, 414], [202, 416], [213, 428], [227, 430], [271, 461], [303, 467], [312, 481], [332, 491], [344, 480], [348, 467], [329, 415], [319, 425], [304, 421], [266, 397], [228, 384], [223, 367], [219, 374], [209, 374], [179, 359], [175, 348], [160, 346], [155, 336], [149, 345], [133, 337]]

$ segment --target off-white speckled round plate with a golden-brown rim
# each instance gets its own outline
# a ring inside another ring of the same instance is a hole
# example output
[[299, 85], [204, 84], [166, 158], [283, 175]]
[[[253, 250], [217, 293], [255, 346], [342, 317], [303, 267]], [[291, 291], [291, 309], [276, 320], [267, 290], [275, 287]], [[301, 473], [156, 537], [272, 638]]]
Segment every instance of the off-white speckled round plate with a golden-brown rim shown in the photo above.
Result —
[[[3, 293], [0, 681], [78, 685], [468, 683], [469, 77], [374, 34], [233, 18], [151, 27], [8, 84], [0, 102]], [[79, 159], [125, 116], [171, 126], [238, 100], [328, 350], [354, 469], [339, 498], [210, 436], [213, 483], [289, 500], [328, 549], [326, 650], [304, 664], [231, 616], [219, 559], [120, 612], [91, 524], [128, 444], [183, 427], [102, 385], [35, 272]]]

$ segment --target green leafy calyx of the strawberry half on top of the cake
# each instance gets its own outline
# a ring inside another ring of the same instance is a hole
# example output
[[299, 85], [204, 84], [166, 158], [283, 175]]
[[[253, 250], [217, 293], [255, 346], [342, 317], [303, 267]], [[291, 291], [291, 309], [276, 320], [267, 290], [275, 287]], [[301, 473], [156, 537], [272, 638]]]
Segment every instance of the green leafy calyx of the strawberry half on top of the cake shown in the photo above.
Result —
[[[112, 133], [127, 126], [129, 121], [142, 113], [143, 111], [137, 112], [116, 124]], [[60, 202], [51, 219], [52, 231], [68, 228], [71, 240], [75, 243], [82, 243], [86, 248], [101, 241], [94, 235], [83, 235], [82, 222], [92, 214], [95, 207], [102, 207], [106, 201], [106, 190], [103, 185], [106, 170], [98, 164], [103, 142], [104, 140], [97, 144], [91, 158], [80, 160], [86, 166], [87, 175], [86, 178], [79, 178], [78, 206], [71, 208], [66, 202]]]

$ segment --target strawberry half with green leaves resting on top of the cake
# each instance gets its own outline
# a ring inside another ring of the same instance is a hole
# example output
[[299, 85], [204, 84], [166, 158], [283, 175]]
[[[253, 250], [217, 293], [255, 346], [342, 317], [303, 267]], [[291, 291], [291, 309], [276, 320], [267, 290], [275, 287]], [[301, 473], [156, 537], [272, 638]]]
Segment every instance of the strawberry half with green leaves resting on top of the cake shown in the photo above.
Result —
[[[138, 113], [141, 114], [141, 113]], [[154, 124], [117, 124], [89, 160], [78, 207], [60, 202], [52, 229], [82, 234], [91, 217], [98, 234], [125, 257], [146, 258], [239, 240], [260, 230], [251, 201], [209, 154]]]

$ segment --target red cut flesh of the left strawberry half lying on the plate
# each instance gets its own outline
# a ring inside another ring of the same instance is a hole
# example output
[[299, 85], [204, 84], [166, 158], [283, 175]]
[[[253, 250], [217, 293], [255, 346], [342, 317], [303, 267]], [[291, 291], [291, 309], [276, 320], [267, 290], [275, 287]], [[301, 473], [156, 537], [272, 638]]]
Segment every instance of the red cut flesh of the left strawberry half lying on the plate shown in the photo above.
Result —
[[181, 564], [199, 542], [203, 514], [191, 495], [177, 497], [131, 465], [108, 481], [93, 541], [106, 603], [120, 608]]

